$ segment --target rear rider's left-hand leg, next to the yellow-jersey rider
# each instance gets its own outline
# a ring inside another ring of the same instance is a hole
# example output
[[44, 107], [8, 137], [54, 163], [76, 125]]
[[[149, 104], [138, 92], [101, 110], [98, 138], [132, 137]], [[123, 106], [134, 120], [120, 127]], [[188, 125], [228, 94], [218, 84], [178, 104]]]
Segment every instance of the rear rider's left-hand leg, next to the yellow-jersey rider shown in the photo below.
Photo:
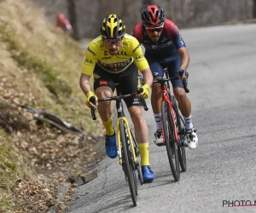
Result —
[[[148, 59], [148, 64], [150, 66], [154, 80], [157, 78], [164, 77], [164, 69], [159, 62]], [[162, 103], [162, 96], [161, 96], [160, 83], [153, 83], [152, 94], [151, 94], [151, 105], [154, 112], [154, 120], [156, 124], [156, 132], [154, 133], [154, 143], [157, 145], [160, 145], [163, 143], [161, 103]]]

